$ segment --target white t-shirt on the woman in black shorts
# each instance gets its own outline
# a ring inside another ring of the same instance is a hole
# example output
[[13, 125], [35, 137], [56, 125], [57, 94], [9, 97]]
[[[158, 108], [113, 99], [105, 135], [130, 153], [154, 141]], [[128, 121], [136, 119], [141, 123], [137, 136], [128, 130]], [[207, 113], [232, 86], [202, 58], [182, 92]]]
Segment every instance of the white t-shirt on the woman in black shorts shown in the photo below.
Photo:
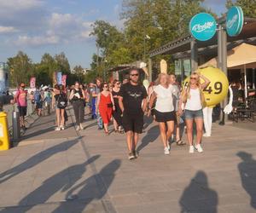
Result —
[[169, 85], [168, 88], [161, 86], [160, 84], [154, 88], [156, 94], [155, 110], [159, 112], [172, 112], [174, 111], [172, 95], [175, 92], [175, 88]]

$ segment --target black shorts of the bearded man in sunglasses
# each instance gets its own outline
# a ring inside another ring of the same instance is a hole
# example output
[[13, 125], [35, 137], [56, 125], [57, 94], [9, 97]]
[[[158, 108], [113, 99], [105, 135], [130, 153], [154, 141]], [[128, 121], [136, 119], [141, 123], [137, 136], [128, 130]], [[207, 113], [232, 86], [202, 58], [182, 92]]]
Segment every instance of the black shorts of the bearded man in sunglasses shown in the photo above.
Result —
[[143, 113], [140, 114], [128, 114], [123, 113], [123, 127], [125, 132], [133, 131], [136, 133], [143, 133]]

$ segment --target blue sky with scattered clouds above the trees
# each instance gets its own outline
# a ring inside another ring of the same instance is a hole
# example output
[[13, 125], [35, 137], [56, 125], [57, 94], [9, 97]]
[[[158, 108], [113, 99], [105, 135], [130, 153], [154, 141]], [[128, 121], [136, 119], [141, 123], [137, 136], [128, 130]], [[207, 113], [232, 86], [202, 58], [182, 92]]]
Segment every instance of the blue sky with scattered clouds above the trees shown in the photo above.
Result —
[[[206, 0], [213, 12], [225, 12], [225, 0]], [[34, 62], [44, 53], [65, 52], [71, 66], [90, 67], [96, 52], [90, 24], [107, 20], [122, 27], [122, 0], [0, 0], [0, 61], [22, 50]]]

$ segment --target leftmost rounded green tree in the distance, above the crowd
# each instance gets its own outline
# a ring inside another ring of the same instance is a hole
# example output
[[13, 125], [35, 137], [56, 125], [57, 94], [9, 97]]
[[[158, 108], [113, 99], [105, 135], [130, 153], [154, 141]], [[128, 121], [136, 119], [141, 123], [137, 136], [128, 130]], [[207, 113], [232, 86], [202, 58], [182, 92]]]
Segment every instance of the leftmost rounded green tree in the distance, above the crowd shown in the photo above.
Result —
[[10, 84], [17, 86], [19, 83], [24, 82], [26, 85], [33, 74], [32, 60], [26, 53], [19, 51], [15, 57], [7, 60], [10, 69]]

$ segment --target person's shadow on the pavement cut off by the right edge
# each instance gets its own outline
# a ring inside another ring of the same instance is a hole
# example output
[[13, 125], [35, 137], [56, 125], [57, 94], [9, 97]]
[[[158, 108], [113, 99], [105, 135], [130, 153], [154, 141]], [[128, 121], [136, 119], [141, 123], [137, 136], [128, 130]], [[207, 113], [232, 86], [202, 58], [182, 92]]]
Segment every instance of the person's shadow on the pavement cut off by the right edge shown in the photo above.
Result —
[[236, 154], [241, 158], [238, 170], [241, 176], [241, 185], [251, 197], [251, 205], [256, 210], [256, 160], [252, 154], [239, 152]]

